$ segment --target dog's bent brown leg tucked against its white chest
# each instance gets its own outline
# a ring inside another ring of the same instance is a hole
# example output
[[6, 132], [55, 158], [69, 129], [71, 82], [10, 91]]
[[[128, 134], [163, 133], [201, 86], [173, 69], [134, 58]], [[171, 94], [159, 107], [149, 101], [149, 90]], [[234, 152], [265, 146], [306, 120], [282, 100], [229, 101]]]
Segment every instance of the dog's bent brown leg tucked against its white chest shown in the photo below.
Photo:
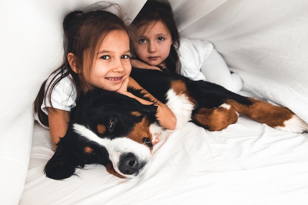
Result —
[[191, 116], [192, 122], [209, 131], [218, 131], [237, 122], [238, 113], [228, 104], [217, 108], [200, 108]]

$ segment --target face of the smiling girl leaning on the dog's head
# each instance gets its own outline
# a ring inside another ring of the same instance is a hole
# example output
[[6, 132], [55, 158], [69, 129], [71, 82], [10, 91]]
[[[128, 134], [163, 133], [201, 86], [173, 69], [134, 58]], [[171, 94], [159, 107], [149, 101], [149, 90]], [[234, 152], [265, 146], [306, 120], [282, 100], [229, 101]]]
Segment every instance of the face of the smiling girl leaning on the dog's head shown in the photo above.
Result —
[[123, 81], [129, 77], [131, 65], [129, 60], [129, 37], [123, 30], [111, 31], [102, 41], [92, 69], [84, 64], [80, 74], [83, 91], [102, 88], [117, 91]]

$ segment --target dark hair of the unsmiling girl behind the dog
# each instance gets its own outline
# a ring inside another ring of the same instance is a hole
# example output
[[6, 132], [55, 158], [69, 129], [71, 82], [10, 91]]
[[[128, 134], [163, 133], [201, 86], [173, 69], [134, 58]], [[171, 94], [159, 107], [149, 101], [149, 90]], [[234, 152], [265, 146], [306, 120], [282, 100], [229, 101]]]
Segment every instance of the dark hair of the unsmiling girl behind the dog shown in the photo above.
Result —
[[169, 29], [173, 40], [166, 66], [172, 72], [180, 72], [181, 64], [177, 51], [180, 46], [180, 35], [168, 0], [147, 0], [131, 26], [138, 29], [157, 21], [161, 21]]

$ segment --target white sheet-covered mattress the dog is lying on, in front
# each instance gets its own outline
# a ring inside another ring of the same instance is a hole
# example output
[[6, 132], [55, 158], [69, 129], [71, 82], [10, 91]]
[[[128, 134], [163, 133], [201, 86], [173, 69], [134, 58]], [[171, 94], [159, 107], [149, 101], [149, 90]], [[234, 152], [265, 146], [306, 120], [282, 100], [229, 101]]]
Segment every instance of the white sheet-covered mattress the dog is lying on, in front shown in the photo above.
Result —
[[102, 165], [54, 180], [49, 131], [34, 125], [20, 205], [307, 205], [308, 133], [277, 131], [240, 117], [223, 131], [187, 123], [154, 146], [146, 172], [121, 179]]

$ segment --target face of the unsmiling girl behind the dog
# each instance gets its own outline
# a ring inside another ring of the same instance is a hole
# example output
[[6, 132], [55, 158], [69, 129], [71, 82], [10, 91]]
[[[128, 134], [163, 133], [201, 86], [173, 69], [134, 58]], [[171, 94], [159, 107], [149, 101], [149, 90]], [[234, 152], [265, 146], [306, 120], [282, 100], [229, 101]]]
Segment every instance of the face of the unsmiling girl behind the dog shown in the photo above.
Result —
[[159, 65], [169, 56], [173, 43], [169, 29], [161, 21], [140, 27], [135, 45], [139, 59], [149, 65]]

